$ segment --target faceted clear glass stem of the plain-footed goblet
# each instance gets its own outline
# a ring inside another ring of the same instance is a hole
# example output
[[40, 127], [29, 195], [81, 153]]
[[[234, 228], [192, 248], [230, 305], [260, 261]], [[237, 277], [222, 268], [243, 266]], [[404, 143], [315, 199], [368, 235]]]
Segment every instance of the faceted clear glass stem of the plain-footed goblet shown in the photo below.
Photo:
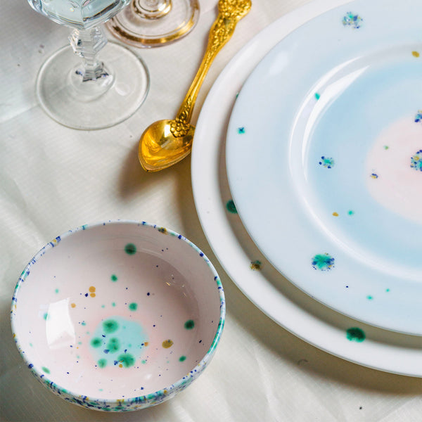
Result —
[[73, 51], [82, 57], [82, 68], [75, 70], [82, 77], [82, 82], [107, 78], [108, 72], [104, 63], [98, 60], [97, 53], [107, 44], [106, 34], [102, 27], [89, 30], [73, 30], [69, 37]]

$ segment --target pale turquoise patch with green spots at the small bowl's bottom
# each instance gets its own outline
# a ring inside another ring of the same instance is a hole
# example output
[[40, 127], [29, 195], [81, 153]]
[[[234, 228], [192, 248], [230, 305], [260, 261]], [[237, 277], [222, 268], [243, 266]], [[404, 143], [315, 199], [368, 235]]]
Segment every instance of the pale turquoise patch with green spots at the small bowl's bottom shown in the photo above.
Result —
[[122, 316], [111, 316], [98, 324], [89, 344], [99, 368], [129, 368], [141, 357], [148, 341], [140, 324]]

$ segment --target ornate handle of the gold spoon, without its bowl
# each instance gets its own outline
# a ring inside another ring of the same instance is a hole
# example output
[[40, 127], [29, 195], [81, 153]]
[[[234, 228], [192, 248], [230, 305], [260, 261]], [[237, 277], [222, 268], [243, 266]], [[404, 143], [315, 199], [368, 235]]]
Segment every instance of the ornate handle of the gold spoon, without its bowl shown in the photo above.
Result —
[[218, 15], [210, 30], [205, 55], [171, 127], [174, 136], [184, 136], [188, 132], [193, 106], [212, 60], [229, 41], [238, 21], [248, 14], [251, 6], [251, 0], [219, 0]]

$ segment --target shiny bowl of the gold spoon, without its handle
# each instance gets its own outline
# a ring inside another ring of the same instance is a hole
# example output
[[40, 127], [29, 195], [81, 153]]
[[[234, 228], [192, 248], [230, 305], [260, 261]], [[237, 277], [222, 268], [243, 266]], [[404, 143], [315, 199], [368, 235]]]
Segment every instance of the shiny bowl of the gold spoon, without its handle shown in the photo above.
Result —
[[158, 120], [142, 134], [139, 161], [147, 172], [158, 172], [183, 160], [191, 152], [195, 127], [188, 124], [184, 136], [174, 136], [175, 120]]

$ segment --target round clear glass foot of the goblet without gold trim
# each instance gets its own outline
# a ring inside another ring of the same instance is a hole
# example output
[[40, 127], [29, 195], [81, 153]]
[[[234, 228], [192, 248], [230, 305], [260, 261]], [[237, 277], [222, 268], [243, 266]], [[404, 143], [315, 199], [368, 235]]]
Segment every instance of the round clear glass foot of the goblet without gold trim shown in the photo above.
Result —
[[133, 115], [148, 94], [149, 75], [139, 57], [108, 42], [98, 53], [105, 63], [100, 79], [83, 81], [81, 58], [71, 46], [53, 53], [37, 77], [37, 96], [44, 111], [73, 129], [103, 129]]

